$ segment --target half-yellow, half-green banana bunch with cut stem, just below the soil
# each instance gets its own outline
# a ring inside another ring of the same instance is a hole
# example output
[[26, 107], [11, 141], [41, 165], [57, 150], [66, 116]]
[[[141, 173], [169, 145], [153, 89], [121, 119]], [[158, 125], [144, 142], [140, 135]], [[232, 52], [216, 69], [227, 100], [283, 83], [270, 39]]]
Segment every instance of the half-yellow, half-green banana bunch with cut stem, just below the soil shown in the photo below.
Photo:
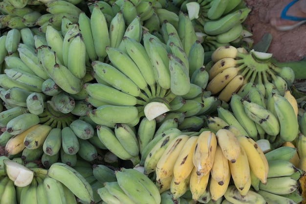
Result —
[[210, 75], [206, 90], [218, 94], [221, 100], [229, 101], [233, 92], [248, 97], [255, 84], [264, 98], [273, 91], [284, 96], [294, 81], [294, 72], [289, 67], [275, 66], [270, 62], [271, 57], [271, 53], [220, 46], [206, 65]]

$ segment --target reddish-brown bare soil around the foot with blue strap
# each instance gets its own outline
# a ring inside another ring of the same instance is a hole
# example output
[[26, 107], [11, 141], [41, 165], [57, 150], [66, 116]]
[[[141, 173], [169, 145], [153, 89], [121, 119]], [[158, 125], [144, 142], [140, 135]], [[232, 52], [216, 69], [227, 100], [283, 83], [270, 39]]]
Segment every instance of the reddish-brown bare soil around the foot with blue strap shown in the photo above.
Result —
[[[266, 19], [268, 10], [277, 3], [288, 2], [288, 0], [244, 1], [252, 8], [245, 24], [253, 33], [254, 45], [262, 39], [265, 33], [271, 33], [273, 39], [267, 52], [272, 53], [279, 62], [299, 61], [306, 56], [306, 23], [293, 30], [282, 32], [271, 27]], [[4, 155], [4, 147], [0, 147], [1, 155]]]

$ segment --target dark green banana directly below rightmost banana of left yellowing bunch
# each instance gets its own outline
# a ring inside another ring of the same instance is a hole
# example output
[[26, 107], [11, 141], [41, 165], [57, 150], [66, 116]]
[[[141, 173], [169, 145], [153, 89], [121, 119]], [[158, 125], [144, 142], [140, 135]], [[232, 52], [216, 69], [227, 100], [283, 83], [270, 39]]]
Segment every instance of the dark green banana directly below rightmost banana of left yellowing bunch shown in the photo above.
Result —
[[93, 161], [98, 157], [96, 147], [91, 144], [87, 139], [81, 139], [78, 137], [80, 149], [78, 151], [78, 156], [87, 161]]

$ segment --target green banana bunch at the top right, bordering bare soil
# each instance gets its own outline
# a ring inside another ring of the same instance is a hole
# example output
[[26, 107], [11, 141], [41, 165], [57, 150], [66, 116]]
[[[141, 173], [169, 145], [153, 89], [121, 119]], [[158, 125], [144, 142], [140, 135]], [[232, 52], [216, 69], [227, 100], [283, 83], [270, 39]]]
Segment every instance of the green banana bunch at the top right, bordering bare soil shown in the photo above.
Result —
[[243, 25], [251, 9], [243, 0], [184, 1], [180, 8], [195, 23], [205, 50], [223, 45], [252, 47], [252, 33]]

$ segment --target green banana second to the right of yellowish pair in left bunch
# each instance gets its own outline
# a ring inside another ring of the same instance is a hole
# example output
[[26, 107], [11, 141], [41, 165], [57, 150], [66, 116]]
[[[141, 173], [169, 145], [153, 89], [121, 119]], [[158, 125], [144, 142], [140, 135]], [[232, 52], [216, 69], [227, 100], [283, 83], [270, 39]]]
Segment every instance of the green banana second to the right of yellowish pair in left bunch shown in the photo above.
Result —
[[69, 126], [62, 129], [62, 148], [68, 155], [75, 155], [80, 149], [78, 137]]

